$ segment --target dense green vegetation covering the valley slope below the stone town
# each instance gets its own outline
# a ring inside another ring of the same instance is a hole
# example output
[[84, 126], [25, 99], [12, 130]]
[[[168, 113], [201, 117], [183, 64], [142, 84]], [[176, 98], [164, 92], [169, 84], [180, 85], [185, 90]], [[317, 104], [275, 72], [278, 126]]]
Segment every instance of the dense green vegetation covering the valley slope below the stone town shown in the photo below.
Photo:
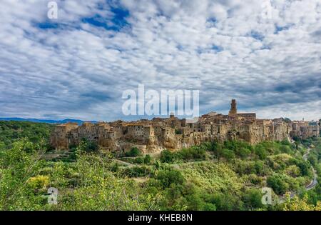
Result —
[[[15, 123], [15, 122], [14, 122]], [[13, 124], [14, 124], [13, 123]], [[51, 126], [2, 122], [0, 140], [1, 210], [320, 210], [320, 139], [208, 142], [180, 151], [144, 155], [133, 148], [121, 158], [83, 140], [65, 158], [49, 157]], [[39, 126], [39, 127], [38, 127]], [[5, 127], [5, 129], [3, 129]], [[19, 131], [18, 131], [19, 130]], [[2, 132], [5, 131], [5, 132]], [[19, 136], [15, 136], [15, 132]], [[15, 136], [15, 138], [13, 138]], [[7, 141], [5, 141], [7, 140]], [[9, 140], [9, 141], [8, 141]], [[307, 148], [314, 148], [307, 155]], [[58, 154], [54, 152], [54, 155]], [[297, 191], [282, 204], [263, 205], [261, 188], [274, 199]], [[58, 204], [47, 190], [58, 189]]]

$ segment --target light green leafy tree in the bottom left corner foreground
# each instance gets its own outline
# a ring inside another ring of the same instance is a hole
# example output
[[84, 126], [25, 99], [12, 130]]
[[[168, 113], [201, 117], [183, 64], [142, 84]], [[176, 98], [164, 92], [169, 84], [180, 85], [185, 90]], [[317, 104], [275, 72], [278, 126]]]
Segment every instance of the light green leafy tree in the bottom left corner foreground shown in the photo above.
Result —
[[[25, 151], [26, 146], [31, 151]], [[29, 185], [35, 184], [35, 177], [44, 164], [41, 154], [44, 151], [35, 149], [26, 140], [16, 141], [11, 149], [0, 151], [0, 210], [41, 209], [42, 198], [35, 195], [36, 186]]]

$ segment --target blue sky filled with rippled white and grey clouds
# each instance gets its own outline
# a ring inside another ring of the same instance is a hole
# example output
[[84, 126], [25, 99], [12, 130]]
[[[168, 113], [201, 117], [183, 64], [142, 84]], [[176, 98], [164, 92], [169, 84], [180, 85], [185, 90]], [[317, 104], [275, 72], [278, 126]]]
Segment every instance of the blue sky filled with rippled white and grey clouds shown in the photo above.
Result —
[[200, 114], [321, 118], [320, 0], [48, 3], [0, 1], [0, 117], [126, 120], [143, 84], [199, 90]]

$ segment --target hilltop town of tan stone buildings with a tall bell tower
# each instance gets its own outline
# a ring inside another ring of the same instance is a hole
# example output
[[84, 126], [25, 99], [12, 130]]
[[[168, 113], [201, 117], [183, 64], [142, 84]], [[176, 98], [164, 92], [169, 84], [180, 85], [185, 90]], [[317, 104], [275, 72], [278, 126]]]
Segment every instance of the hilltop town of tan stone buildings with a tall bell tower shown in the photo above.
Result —
[[238, 113], [235, 99], [228, 115], [210, 112], [196, 122], [169, 118], [139, 121], [85, 122], [59, 124], [51, 134], [51, 146], [68, 149], [81, 139], [97, 141], [109, 151], [126, 152], [136, 146], [144, 153], [163, 149], [178, 150], [204, 141], [243, 140], [250, 144], [260, 141], [290, 140], [291, 137], [306, 139], [320, 135], [317, 121], [290, 121], [288, 119], [257, 119], [255, 113]]

